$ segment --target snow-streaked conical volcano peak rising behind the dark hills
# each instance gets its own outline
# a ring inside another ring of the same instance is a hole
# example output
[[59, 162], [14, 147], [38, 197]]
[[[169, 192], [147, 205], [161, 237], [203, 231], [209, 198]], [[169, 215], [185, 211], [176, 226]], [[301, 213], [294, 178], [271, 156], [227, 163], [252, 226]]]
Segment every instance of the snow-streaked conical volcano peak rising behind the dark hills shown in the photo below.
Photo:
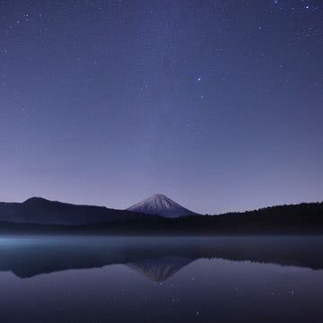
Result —
[[172, 201], [163, 194], [155, 194], [144, 201], [127, 208], [127, 211], [138, 212], [142, 214], [158, 214], [168, 218], [175, 218], [186, 215], [197, 215], [187, 208]]

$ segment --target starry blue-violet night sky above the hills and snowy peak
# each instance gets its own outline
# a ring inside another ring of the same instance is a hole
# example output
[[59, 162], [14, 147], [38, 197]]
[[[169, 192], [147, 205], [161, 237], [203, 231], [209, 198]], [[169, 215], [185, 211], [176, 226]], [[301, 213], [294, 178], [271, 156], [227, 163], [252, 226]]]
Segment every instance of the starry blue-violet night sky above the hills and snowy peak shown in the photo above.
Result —
[[0, 200], [201, 213], [323, 196], [323, 3], [0, 1]]

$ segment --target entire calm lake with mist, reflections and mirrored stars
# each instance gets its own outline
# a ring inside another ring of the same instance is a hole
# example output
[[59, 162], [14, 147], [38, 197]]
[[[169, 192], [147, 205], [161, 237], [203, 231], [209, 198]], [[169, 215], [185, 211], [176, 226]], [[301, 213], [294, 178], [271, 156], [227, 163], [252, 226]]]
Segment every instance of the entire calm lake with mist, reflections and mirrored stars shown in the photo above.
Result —
[[0, 238], [0, 322], [323, 322], [323, 238]]

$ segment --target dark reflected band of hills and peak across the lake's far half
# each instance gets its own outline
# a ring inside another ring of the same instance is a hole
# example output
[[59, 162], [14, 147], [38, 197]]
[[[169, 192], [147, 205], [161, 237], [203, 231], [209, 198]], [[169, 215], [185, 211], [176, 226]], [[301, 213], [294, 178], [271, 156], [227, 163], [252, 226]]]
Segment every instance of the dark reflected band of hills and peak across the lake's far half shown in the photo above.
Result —
[[124, 264], [163, 281], [198, 258], [323, 269], [320, 237], [56, 237], [0, 239], [0, 271], [20, 277]]

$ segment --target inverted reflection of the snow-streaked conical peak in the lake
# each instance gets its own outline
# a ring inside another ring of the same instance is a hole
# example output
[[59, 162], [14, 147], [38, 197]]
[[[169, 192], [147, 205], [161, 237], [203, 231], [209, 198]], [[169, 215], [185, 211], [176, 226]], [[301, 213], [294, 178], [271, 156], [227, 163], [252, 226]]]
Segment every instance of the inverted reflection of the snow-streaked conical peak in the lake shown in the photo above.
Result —
[[193, 260], [180, 257], [162, 257], [146, 259], [141, 262], [127, 264], [137, 273], [145, 275], [153, 282], [163, 282], [176, 274], [184, 266], [188, 266]]

